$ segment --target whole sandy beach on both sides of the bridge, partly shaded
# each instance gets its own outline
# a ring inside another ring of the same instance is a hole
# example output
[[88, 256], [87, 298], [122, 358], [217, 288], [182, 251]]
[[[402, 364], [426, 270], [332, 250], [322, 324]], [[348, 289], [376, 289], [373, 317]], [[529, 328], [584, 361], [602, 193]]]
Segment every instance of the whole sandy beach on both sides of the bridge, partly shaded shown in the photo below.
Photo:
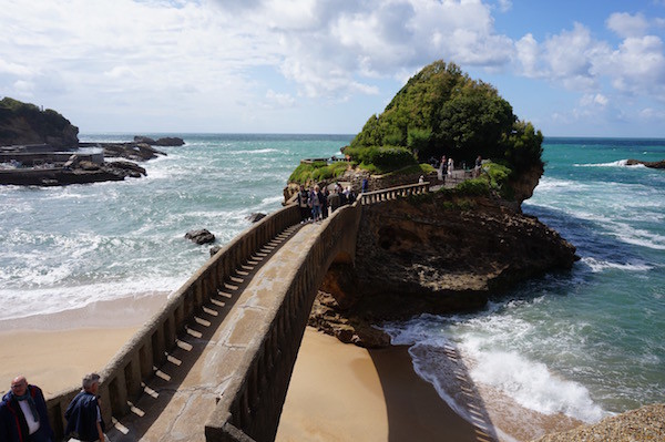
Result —
[[[132, 304], [141, 308], [132, 309]], [[47, 398], [78, 387], [84, 373], [111, 360], [157, 308], [158, 298], [145, 304], [102, 302], [0, 322], [0, 391], [6, 392], [19, 373], [41, 387]], [[278, 441], [463, 442], [475, 436], [474, 428], [416, 374], [406, 347], [367, 350], [306, 330]]]

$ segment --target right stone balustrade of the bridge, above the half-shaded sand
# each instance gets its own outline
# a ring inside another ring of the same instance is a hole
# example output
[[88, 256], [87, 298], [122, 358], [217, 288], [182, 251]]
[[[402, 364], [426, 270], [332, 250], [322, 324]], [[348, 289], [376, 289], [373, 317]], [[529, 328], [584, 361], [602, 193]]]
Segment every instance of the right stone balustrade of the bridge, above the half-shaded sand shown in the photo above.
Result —
[[[294, 261], [295, 274], [285, 275], [291, 278], [287, 288], [273, 292], [270, 306], [256, 311], [263, 323], [254, 325], [255, 336], [239, 358], [226, 358], [233, 376], [206, 422], [206, 441], [274, 440], [317, 290], [335, 259], [352, 259], [360, 216], [358, 202], [335, 210], [313, 246]], [[227, 347], [237, 350], [238, 342]]]

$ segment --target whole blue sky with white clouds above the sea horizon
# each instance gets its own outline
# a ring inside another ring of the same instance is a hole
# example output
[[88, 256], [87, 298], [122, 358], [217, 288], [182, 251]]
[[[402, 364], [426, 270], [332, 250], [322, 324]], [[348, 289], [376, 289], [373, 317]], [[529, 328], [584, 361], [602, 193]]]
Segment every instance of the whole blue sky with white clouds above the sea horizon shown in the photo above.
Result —
[[3, 0], [0, 97], [85, 133], [355, 134], [443, 60], [545, 136], [665, 137], [665, 0]]

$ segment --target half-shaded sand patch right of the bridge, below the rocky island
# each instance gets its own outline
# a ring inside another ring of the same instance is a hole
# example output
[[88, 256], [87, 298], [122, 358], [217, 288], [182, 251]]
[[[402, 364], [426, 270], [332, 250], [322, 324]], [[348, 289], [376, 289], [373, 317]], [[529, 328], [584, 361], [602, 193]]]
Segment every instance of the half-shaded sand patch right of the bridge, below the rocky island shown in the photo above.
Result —
[[478, 441], [406, 347], [367, 350], [308, 328], [277, 441]]

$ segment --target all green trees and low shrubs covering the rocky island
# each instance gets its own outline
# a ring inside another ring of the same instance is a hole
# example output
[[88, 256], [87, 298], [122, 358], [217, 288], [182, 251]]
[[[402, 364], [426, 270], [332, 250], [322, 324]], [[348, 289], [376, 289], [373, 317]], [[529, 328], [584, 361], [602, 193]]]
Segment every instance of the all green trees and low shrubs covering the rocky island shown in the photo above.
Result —
[[512, 199], [511, 182], [532, 171], [542, 173], [542, 133], [519, 120], [497, 89], [439, 60], [413, 75], [381, 114], [369, 117], [342, 148], [350, 162], [303, 163], [289, 183], [329, 183], [349, 166], [371, 175], [427, 176], [436, 172], [432, 158], [453, 158], [457, 169], [472, 167], [481, 156], [489, 160], [483, 173], [456, 192], [494, 192]]

